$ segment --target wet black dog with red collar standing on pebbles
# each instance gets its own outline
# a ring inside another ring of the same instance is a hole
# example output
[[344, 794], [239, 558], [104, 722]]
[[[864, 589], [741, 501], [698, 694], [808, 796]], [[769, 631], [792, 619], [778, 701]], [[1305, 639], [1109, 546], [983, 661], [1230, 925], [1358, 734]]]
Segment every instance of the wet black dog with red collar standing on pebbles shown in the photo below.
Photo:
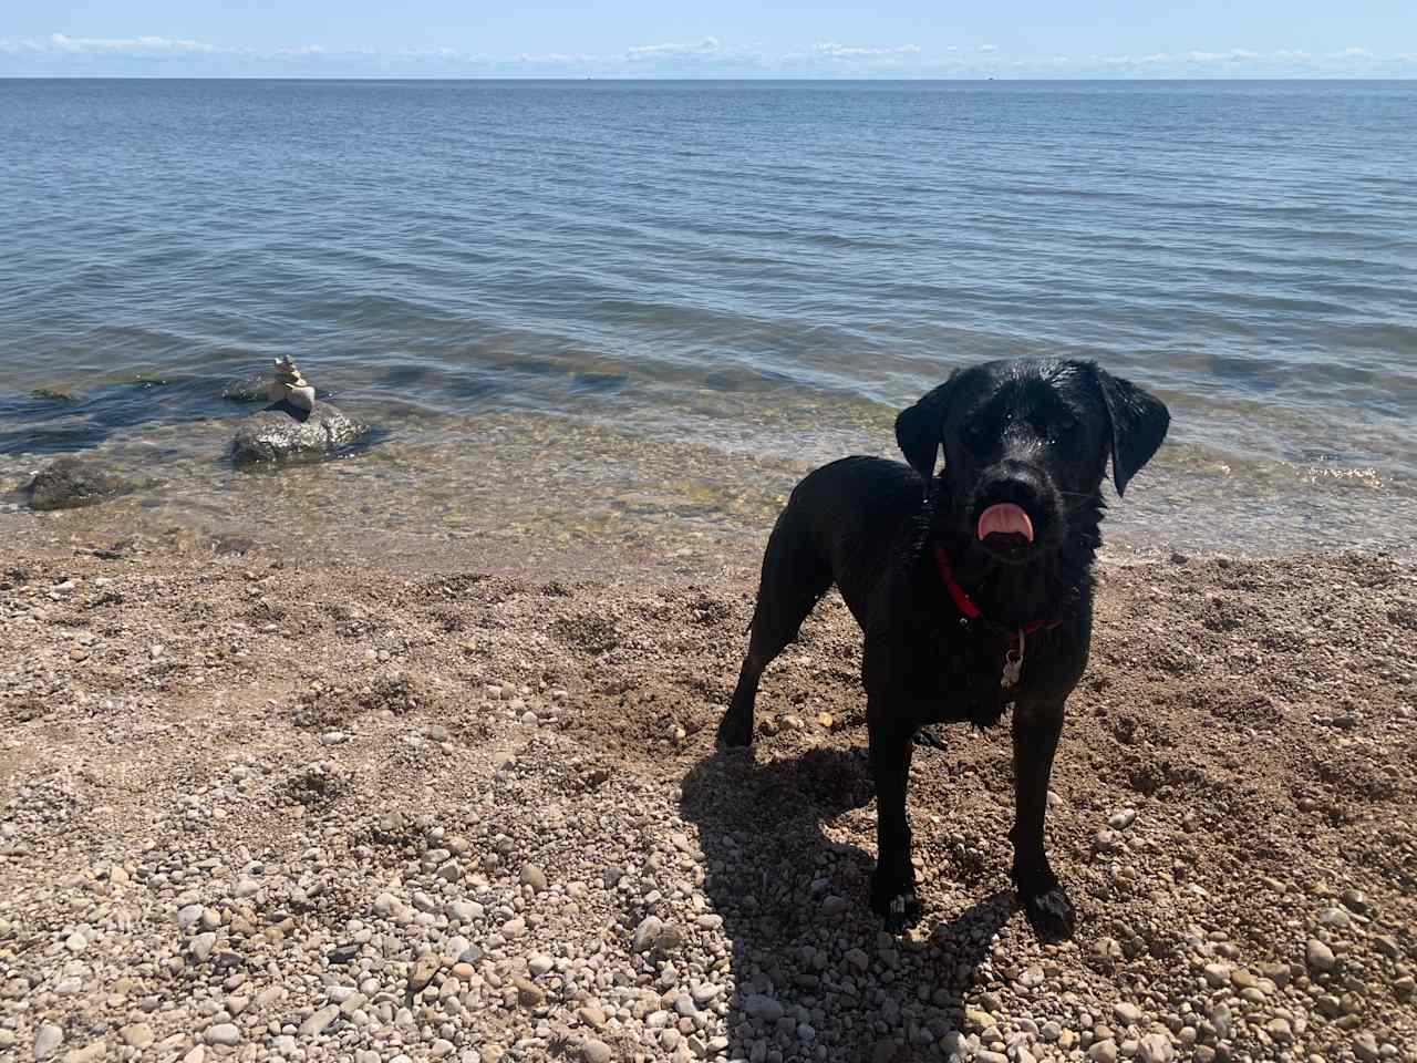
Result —
[[794, 489], [718, 740], [752, 740], [762, 669], [836, 583], [866, 635], [871, 907], [890, 930], [920, 917], [905, 818], [915, 731], [985, 727], [1013, 704], [1013, 882], [1040, 935], [1073, 933], [1043, 816], [1063, 703], [1087, 665], [1102, 476], [1111, 456], [1121, 495], [1169, 422], [1158, 398], [1090, 361], [990, 361], [956, 370], [896, 418], [910, 466], [845, 458]]

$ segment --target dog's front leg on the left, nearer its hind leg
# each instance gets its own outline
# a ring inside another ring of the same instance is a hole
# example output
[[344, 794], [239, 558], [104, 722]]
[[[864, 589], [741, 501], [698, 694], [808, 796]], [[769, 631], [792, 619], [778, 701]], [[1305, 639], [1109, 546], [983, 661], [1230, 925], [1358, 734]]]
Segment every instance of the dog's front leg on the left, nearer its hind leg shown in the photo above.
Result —
[[870, 697], [866, 721], [876, 777], [876, 872], [871, 874], [871, 910], [898, 934], [920, 920], [915, 869], [910, 862], [910, 818], [905, 787], [910, 782], [911, 738], [915, 729], [898, 719], [898, 706]]

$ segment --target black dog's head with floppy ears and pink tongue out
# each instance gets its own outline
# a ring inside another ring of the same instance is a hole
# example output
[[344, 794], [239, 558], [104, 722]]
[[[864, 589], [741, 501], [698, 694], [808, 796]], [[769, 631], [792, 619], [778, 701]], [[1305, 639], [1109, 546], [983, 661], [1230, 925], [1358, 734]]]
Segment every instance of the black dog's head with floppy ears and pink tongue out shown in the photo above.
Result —
[[955, 370], [896, 418], [896, 441], [927, 492], [945, 492], [937, 522], [1026, 561], [1063, 541], [1070, 514], [1100, 512], [1108, 458], [1121, 495], [1169, 424], [1159, 398], [1093, 361], [1020, 359]]

